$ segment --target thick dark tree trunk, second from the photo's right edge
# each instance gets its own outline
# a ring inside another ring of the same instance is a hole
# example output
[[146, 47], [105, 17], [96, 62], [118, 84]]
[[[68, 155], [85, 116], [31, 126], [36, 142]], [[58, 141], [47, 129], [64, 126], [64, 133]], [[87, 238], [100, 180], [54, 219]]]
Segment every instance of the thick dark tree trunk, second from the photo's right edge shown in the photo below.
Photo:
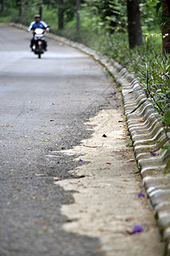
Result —
[[143, 43], [139, 11], [139, 0], [127, 0], [128, 42], [129, 48]]

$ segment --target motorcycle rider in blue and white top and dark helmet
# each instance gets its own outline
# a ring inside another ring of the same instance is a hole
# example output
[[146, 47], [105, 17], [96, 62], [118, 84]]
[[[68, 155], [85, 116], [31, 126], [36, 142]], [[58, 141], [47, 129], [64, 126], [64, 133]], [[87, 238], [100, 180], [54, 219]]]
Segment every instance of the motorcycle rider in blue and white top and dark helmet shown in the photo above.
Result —
[[[33, 38], [31, 38], [31, 44], [30, 44], [30, 47], [31, 47], [31, 50], [33, 51], [33, 45], [35, 43], [35, 40], [34, 40], [34, 31], [37, 29], [37, 28], [42, 28], [44, 29], [46, 32], [49, 32], [49, 27], [47, 25], [47, 23], [45, 23], [44, 21], [41, 20], [41, 16], [40, 15], [35, 15], [35, 21], [32, 21], [30, 26], [28, 27], [28, 32], [31, 32], [31, 30], [33, 31]], [[44, 39], [44, 49], [47, 50], [47, 40], [46, 38]]]

